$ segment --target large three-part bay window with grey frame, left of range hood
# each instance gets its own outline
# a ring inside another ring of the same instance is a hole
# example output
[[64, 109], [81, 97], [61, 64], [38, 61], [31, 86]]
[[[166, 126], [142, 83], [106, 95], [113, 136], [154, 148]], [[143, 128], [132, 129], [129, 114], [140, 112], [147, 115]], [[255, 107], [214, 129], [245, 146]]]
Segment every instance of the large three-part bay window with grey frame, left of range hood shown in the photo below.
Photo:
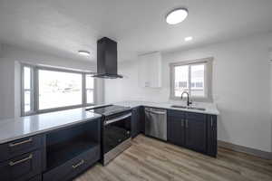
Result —
[[22, 115], [94, 104], [92, 74], [22, 64]]

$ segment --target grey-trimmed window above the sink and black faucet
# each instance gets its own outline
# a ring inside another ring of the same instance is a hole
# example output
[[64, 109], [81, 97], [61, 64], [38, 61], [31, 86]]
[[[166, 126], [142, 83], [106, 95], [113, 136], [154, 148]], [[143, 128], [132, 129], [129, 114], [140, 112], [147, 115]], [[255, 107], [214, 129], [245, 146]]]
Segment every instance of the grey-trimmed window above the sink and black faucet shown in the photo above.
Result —
[[180, 99], [187, 91], [192, 100], [212, 101], [211, 62], [212, 58], [170, 63], [170, 98]]

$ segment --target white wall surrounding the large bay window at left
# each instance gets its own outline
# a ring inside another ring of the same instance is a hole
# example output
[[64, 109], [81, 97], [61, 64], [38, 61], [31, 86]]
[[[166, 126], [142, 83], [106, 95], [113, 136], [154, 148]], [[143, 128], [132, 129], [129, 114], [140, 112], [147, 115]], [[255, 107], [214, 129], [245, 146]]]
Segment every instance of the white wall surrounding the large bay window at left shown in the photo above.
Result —
[[[92, 62], [64, 59], [47, 53], [4, 44], [0, 54], [0, 119], [20, 116], [20, 62], [96, 71]], [[103, 81], [98, 82], [98, 103], [103, 102]]]

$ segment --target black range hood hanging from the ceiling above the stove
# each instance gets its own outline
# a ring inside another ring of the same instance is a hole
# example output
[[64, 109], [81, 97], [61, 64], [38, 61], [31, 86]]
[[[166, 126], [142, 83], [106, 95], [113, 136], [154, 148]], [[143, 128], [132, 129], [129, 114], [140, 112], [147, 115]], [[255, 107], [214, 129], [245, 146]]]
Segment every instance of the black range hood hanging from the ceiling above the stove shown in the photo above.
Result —
[[93, 77], [122, 78], [117, 74], [117, 43], [110, 38], [103, 37], [97, 41], [97, 74]]

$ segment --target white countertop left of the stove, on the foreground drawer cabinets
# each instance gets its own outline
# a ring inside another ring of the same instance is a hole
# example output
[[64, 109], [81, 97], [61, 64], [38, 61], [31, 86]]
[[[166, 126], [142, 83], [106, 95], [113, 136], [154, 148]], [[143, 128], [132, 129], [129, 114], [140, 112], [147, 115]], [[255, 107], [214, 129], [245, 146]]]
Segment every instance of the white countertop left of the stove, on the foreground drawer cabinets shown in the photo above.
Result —
[[2, 119], [0, 120], [0, 144], [97, 118], [101, 118], [101, 115], [80, 108], [18, 119]]

